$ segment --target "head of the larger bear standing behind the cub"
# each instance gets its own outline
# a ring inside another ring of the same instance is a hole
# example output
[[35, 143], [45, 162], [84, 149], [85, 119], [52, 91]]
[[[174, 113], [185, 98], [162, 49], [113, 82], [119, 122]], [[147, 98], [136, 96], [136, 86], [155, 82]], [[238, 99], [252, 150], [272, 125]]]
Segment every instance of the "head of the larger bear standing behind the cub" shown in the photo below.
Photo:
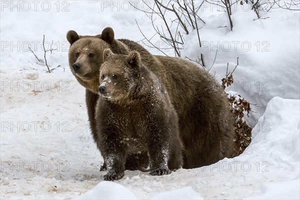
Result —
[[97, 93], [103, 51], [109, 48], [116, 54], [127, 54], [126, 46], [114, 40], [114, 32], [109, 27], [96, 36], [79, 36], [75, 31], [69, 31], [66, 38], [70, 43], [68, 61], [71, 72], [81, 85]]

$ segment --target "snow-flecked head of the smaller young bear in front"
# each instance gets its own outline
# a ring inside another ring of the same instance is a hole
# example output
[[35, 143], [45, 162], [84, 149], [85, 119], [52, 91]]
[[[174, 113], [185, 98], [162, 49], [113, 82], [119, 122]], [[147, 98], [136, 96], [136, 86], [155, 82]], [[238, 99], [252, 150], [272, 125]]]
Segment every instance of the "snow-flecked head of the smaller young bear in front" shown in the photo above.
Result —
[[132, 51], [128, 56], [116, 55], [110, 49], [106, 49], [103, 52], [103, 59], [99, 93], [110, 100], [132, 97], [140, 78], [139, 53]]

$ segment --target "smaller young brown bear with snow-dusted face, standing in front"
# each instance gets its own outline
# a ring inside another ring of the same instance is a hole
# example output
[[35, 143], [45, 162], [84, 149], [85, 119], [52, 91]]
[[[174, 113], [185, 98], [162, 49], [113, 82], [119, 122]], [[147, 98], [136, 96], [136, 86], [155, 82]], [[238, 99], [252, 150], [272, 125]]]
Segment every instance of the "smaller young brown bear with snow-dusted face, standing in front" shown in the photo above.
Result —
[[163, 84], [136, 51], [124, 56], [107, 49], [103, 57], [96, 122], [104, 180], [123, 177], [127, 154], [147, 153], [151, 175], [180, 168], [178, 118]]

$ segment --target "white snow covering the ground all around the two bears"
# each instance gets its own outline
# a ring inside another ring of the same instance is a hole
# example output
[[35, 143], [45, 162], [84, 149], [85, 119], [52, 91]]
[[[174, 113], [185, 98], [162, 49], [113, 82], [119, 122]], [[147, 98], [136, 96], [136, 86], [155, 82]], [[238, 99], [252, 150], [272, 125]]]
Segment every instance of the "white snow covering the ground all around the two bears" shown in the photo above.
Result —
[[[128, 5], [0, 1], [0, 198], [299, 199], [300, 16], [298, 11], [282, 9], [262, 13], [270, 17], [266, 20], [253, 21], [254, 12], [236, 8], [233, 32], [217, 28], [228, 26], [223, 13], [211, 7], [200, 13], [206, 22], [200, 36], [208, 66], [219, 48], [211, 73], [220, 80], [226, 63], [232, 70], [239, 57], [230, 89], [259, 105], [246, 119], [255, 127], [243, 154], [164, 176], [125, 171], [119, 181], [102, 181], [103, 159], [88, 128], [84, 88], [68, 68], [65, 34], [75, 30], [96, 35], [109, 26], [116, 38], [140, 41], [137, 20], [141, 30], [152, 36], [149, 19], [129, 11]], [[29, 44], [43, 59], [43, 35], [46, 44], [53, 40], [52, 48], [57, 49], [51, 55], [47, 52], [51, 68], [60, 65], [51, 74], [35, 64], [27, 48]], [[184, 56], [196, 57], [196, 37], [195, 32], [185, 37]], [[251, 48], [246, 51], [242, 43]], [[229, 51], [226, 44], [231, 45]], [[172, 51], [166, 54], [173, 56]]]

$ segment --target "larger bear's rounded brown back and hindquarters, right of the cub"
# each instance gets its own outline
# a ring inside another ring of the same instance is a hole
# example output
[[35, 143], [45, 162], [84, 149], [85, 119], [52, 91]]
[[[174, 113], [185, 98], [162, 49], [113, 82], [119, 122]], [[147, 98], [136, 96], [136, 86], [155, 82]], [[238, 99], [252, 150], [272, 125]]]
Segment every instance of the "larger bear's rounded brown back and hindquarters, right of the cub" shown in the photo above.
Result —
[[233, 116], [224, 90], [215, 78], [182, 59], [154, 58], [157, 64], [147, 67], [165, 85], [178, 114], [180, 136], [187, 147], [184, 167], [204, 166], [230, 157]]

